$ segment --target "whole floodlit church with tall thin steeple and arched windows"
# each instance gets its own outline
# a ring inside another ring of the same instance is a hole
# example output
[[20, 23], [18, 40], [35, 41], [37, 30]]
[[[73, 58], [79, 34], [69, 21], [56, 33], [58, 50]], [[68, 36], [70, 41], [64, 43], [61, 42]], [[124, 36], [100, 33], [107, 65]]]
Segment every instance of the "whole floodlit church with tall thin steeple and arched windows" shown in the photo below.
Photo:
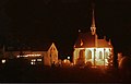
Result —
[[106, 67], [109, 63], [109, 58], [114, 58], [114, 47], [110, 39], [107, 41], [106, 38], [98, 38], [94, 9], [92, 9], [91, 32], [79, 32], [79, 37], [74, 44], [73, 63], [85, 65], [90, 62], [92, 67]]

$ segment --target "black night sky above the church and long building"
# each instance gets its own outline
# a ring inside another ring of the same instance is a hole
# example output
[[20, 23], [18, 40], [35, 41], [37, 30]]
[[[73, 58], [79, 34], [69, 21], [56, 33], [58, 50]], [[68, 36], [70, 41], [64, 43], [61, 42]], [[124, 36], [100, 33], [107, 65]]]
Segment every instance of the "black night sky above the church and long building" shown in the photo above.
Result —
[[[60, 53], [71, 55], [78, 29], [90, 32], [91, 0], [0, 0], [1, 40], [52, 40]], [[131, 1], [95, 0], [98, 35], [112, 39], [116, 51], [131, 52]]]

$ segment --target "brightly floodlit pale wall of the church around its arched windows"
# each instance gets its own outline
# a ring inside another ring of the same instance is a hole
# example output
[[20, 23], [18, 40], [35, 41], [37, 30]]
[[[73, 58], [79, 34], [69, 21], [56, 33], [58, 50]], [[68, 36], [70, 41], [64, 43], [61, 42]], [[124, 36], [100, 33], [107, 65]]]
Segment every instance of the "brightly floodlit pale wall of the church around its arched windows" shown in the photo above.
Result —
[[[94, 65], [94, 55], [95, 55], [95, 63], [96, 65], [104, 65], [104, 57], [105, 57], [105, 65], [108, 64], [108, 58], [111, 52], [111, 48], [75, 48], [73, 52], [73, 62], [76, 63], [76, 59], [79, 58], [80, 50], [85, 49], [85, 63], [87, 61], [91, 61]], [[96, 52], [94, 53], [94, 49], [96, 49]], [[88, 51], [92, 52], [92, 59], [88, 59]], [[99, 58], [99, 52], [102, 51], [102, 58]]]

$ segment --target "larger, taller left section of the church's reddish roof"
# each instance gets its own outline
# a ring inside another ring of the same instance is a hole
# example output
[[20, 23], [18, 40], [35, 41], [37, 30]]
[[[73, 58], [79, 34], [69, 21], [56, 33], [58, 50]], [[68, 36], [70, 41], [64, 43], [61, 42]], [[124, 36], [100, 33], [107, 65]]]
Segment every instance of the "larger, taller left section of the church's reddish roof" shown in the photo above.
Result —
[[91, 32], [80, 33], [74, 46], [75, 48], [95, 47], [95, 35]]

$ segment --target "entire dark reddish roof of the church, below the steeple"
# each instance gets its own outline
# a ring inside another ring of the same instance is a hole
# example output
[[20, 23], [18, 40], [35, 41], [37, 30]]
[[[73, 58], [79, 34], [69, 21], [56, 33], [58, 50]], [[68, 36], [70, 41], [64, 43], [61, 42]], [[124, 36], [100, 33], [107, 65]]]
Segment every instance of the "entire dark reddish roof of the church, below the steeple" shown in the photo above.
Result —
[[[97, 41], [97, 48], [112, 48], [111, 44], [109, 44], [106, 39], [98, 39]], [[88, 33], [80, 33], [79, 37], [74, 45], [75, 48], [92, 48], [95, 46], [95, 35], [92, 35], [91, 32]]]

